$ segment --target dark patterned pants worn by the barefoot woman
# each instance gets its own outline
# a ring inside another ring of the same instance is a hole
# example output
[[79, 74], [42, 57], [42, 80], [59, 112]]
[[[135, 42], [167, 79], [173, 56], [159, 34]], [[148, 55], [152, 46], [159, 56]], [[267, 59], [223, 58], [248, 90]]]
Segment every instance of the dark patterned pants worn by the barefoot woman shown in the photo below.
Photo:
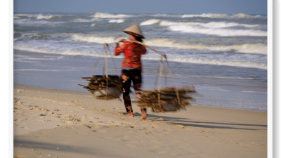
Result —
[[123, 69], [122, 70], [122, 91], [123, 91], [123, 99], [124, 105], [126, 107], [126, 112], [133, 112], [133, 108], [131, 106], [131, 98], [130, 98], [130, 87], [131, 81], [133, 81], [133, 88], [135, 88], [136, 95], [141, 91], [141, 70], [138, 69]]

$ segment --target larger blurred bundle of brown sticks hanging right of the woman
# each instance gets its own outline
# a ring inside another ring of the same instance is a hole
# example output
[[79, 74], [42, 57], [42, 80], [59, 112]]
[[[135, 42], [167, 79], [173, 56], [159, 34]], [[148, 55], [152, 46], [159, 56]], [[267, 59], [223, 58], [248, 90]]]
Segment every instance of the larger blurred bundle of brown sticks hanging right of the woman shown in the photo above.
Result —
[[187, 93], [195, 93], [194, 86], [183, 86], [181, 88], [162, 88], [160, 91], [142, 91], [138, 100], [138, 106], [151, 107], [152, 112], [175, 112], [185, 110], [194, 99]]

